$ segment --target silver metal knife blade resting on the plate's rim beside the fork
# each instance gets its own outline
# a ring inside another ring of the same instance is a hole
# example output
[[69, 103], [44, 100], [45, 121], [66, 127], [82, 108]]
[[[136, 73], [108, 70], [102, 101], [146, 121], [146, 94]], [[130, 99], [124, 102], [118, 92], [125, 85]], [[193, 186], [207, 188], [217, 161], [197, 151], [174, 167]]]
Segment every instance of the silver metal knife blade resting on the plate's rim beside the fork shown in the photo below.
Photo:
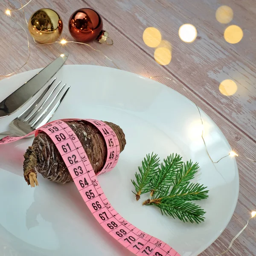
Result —
[[0, 102], [0, 118], [9, 116], [28, 102], [45, 84], [60, 70], [66, 62], [68, 53], [61, 54], [47, 67], [37, 73], [29, 81], [15, 90], [10, 96]]

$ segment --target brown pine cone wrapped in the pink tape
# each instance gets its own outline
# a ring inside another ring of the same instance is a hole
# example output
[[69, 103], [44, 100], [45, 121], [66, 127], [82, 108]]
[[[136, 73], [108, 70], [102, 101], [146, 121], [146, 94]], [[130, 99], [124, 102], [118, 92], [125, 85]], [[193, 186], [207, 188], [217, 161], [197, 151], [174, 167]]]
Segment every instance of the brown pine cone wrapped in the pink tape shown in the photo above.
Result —
[[[95, 173], [102, 170], [107, 160], [107, 146], [104, 137], [99, 130], [90, 122], [68, 121], [67, 125], [72, 128], [79, 138]], [[120, 144], [120, 153], [125, 148], [125, 134], [122, 129], [111, 122], [109, 125]], [[61, 154], [47, 134], [40, 133], [35, 137], [33, 144], [24, 154], [23, 171], [24, 178], [28, 185], [38, 186], [37, 172], [44, 178], [64, 184], [73, 181]]]

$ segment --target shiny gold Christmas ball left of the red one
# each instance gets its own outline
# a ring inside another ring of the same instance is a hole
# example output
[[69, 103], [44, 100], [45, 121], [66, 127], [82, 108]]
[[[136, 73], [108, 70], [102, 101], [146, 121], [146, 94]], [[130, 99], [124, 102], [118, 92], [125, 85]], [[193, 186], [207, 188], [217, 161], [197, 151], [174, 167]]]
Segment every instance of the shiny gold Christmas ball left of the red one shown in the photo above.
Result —
[[63, 22], [60, 15], [52, 9], [40, 9], [32, 14], [28, 26], [35, 41], [48, 44], [57, 41], [60, 37]]

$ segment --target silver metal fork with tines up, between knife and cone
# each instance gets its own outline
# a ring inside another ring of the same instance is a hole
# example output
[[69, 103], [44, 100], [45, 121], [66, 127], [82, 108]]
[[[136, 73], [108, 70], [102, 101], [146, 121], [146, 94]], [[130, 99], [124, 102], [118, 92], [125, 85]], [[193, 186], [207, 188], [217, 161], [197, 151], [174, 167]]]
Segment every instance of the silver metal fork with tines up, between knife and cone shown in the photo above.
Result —
[[[70, 89], [70, 86], [66, 87], [66, 84], [61, 85], [61, 81], [53, 86], [55, 81], [56, 78], [26, 111], [9, 124], [9, 131], [0, 133], [0, 139], [3, 136], [24, 136], [46, 124], [51, 119]], [[53, 89], [50, 90], [51, 88]], [[54, 95], [55, 92], [56, 94]]]

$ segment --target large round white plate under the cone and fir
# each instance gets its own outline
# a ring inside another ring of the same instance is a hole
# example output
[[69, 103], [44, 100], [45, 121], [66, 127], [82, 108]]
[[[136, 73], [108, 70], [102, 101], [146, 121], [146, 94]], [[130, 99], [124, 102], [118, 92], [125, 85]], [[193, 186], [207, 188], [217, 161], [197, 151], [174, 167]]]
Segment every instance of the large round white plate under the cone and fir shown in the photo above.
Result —
[[[0, 101], [38, 70], [0, 81]], [[239, 193], [234, 158], [213, 165], [201, 139], [195, 105], [176, 91], [151, 79], [121, 70], [87, 65], [64, 66], [58, 79], [71, 85], [54, 119], [93, 118], [114, 122], [127, 139], [119, 163], [99, 182], [117, 212], [132, 224], [174, 247], [182, 256], [205, 250], [233, 215]], [[218, 160], [231, 148], [215, 123], [203, 112], [209, 154]], [[0, 131], [11, 117], [0, 119]], [[23, 179], [23, 154], [32, 139], [0, 146], [0, 255], [11, 256], [131, 256], [93, 218], [73, 183], [58, 185], [39, 176], [31, 188]], [[159, 209], [136, 201], [131, 179], [137, 166], [154, 151], [163, 159], [179, 153], [198, 161], [196, 181], [209, 188], [202, 224], [162, 216]], [[15, 254], [16, 253], [16, 254]]]

